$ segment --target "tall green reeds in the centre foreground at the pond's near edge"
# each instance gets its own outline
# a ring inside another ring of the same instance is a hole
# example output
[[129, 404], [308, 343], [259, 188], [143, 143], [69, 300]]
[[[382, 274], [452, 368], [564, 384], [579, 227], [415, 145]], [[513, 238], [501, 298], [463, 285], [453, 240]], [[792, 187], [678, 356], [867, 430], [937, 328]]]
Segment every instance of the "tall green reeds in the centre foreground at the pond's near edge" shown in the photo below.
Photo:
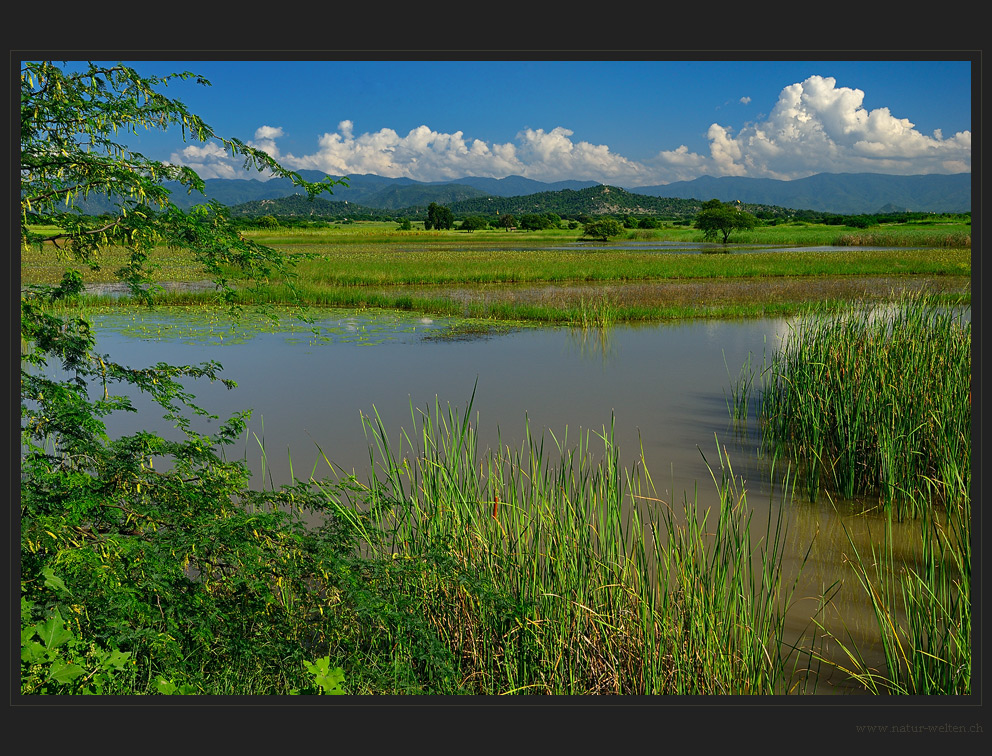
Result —
[[[612, 429], [571, 446], [528, 426], [519, 449], [480, 454], [469, 414], [450, 407], [414, 413], [398, 443], [377, 415], [365, 421], [376, 474], [335, 506], [370, 513], [369, 560], [413, 570], [407, 619], [431, 629], [458, 692], [788, 689], [782, 522], [769, 516], [752, 542], [725, 453], [713, 473], [719, 511], [701, 511], [688, 496], [680, 507], [658, 499], [643, 457], [621, 469]], [[365, 663], [409, 669], [402, 627], [375, 633], [392, 661]], [[451, 685], [433, 677], [441, 666], [414, 666], [416, 689]]]

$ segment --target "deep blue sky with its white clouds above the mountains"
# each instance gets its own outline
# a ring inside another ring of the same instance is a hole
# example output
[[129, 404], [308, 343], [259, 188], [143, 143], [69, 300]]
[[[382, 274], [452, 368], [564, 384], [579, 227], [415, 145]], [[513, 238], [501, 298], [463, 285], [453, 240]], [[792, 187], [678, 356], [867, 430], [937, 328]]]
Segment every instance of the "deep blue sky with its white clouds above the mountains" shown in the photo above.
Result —
[[[971, 171], [971, 62], [125, 61], [293, 169], [420, 181], [522, 175], [649, 186], [700, 175]], [[178, 132], [132, 144], [243, 177]], [[257, 177], [257, 176], [256, 176]]]

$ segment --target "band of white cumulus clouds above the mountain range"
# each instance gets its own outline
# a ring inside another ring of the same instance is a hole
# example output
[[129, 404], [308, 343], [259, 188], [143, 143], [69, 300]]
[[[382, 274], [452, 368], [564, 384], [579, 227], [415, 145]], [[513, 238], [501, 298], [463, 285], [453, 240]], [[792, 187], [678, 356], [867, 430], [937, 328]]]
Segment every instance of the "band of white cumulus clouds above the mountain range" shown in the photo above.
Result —
[[[742, 97], [749, 104], [750, 97]], [[896, 174], [960, 173], [971, 170], [971, 132], [930, 135], [888, 108], [867, 110], [864, 92], [837, 85], [829, 76], [810, 76], [784, 87], [767, 116], [734, 127], [712, 123], [707, 149], [686, 145], [661, 149], [643, 162], [605, 144], [575, 139], [564, 126], [523, 128], [513, 141], [484, 142], [462, 131], [445, 133], [428, 125], [405, 135], [390, 128], [357, 132], [351, 120], [317, 140], [310, 154], [282, 153], [278, 126], [261, 126], [252, 146], [295, 170], [334, 175], [374, 173], [419, 181], [465, 176], [501, 178], [511, 174], [541, 181], [593, 180], [645, 186], [713, 176], [801, 178], [821, 172]], [[204, 178], [232, 178], [240, 164], [216, 146], [189, 146], [172, 162], [191, 166]]]

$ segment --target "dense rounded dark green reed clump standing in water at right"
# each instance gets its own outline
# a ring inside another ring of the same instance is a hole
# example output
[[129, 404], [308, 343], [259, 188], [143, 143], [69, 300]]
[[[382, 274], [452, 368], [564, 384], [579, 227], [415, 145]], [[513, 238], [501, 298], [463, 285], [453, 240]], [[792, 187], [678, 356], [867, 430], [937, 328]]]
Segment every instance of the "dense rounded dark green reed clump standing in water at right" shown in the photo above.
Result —
[[765, 447], [847, 499], [915, 510], [971, 483], [971, 323], [925, 295], [806, 315], [761, 388]]

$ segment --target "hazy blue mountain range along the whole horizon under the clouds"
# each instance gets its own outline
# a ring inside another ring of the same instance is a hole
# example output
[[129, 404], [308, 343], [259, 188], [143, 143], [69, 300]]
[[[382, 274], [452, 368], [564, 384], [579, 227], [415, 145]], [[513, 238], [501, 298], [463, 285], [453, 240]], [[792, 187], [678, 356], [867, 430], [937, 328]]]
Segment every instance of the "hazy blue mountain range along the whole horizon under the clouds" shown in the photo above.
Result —
[[[318, 181], [327, 174], [300, 171], [308, 181]], [[340, 178], [340, 177], [332, 177]], [[451, 181], [415, 181], [409, 178], [385, 178], [373, 174], [347, 177], [348, 185], [333, 188], [322, 195], [335, 203], [350, 203], [363, 208], [396, 212], [406, 208], [424, 208], [431, 202], [451, 205], [479, 205], [470, 200], [485, 198], [522, 198], [554, 192], [573, 192], [602, 186], [596, 181], [542, 182], [522, 176], [494, 179], [465, 177]], [[223, 205], [235, 207], [263, 200], [277, 200], [300, 194], [288, 179], [207, 179], [205, 196]], [[203, 202], [200, 195], [188, 195], [180, 184], [166, 184], [173, 189], [173, 201], [188, 208]], [[764, 178], [701, 176], [692, 181], [677, 181], [656, 186], [622, 187], [626, 191], [653, 198], [740, 200], [747, 205], [769, 205], [795, 210], [861, 215], [879, 212], [970, 212], [972, 182], [970, 173], [892, 176], [878, 173], [819, 173], [807, 178], [782, 181]], [[494, 206], [496, 203], [493, 203]], [[107, 212], [110, 203], [89, 200], [85, 212]], [[550, 210], [551, 208], [547, 208]], [[534, 212], [542, 212], [539, 207]]]

